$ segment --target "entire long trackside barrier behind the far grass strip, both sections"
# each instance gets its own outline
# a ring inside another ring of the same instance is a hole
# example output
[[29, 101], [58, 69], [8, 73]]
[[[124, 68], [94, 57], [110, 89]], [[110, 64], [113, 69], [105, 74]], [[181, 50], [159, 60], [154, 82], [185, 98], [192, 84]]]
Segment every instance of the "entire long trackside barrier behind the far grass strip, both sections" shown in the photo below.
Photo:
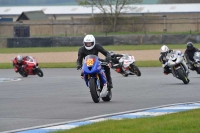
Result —
[[[58, 47], [58, 46], [82, 46], [84, 37], [20, 37], [8, 38], [7, 47]], [[99, 37], [96, 42], [105, 45], [118, 44], [186, 44], [200, 42], [200, 35], [120, 35]]]

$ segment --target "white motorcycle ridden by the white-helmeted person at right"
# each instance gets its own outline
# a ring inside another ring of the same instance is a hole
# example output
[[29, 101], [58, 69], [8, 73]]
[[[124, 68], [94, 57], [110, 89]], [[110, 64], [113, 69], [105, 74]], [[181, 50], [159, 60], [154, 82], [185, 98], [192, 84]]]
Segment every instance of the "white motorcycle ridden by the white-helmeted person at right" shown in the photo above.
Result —
[[183, 81], [184, 84], [189, 83], [188, 79], [188, 67], [185, 63], [184, 56], [181, 51], [173, 51], [168, 56], [167, 65], [170, 67], [170, 70], [174, 77]]

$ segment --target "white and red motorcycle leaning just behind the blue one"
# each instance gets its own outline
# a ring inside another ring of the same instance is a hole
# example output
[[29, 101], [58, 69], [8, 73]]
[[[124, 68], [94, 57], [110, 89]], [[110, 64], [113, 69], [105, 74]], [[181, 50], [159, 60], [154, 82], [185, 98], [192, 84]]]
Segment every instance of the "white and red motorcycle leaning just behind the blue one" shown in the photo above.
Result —
[[128, 54], [122, 55], [122, 57], [118, 57], [119, 64], [122, 64], [122, 68], [120, 68], [119, 64], [115, 64], [112, 68], [118, 73], [121, 73], [121, 69], [123, 69], [123, 71], [126, 71], [127, 74], [121, 73], [124, 77], [127, 77], [128, 75], [141, 76], [139, 68], [135, 65], [134, 56]]

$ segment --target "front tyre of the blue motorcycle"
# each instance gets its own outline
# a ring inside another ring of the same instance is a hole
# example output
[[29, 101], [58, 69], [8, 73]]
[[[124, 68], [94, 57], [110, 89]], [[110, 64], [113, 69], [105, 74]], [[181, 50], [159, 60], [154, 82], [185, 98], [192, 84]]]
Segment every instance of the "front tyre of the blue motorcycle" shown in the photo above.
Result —
[[100, 101], [100, 96], [99, 96], [99, 91], [98, 91], [98, 88], [97, 88], [97, 85], [96, 85], [96, 79], [94, 78], [91, 78], [89, 80], [89, 84], [90, 84], [90, 93], [91, 93], [91, 96], [92, 96], [92, 100], [95, 102], [95, 103], [98, 103]]

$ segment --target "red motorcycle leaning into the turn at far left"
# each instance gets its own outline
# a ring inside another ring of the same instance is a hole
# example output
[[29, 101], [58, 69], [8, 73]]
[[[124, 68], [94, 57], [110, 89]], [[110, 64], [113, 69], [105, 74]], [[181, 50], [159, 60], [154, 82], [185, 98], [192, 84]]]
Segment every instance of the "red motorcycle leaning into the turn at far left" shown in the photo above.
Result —
[[34, 57], [27, 56], [24, 59], [24, 65], [19, 68], [19, 74], [23, 77], [27, 77], [28, 75], [38, 75], [39, 77], [43, 77], [42, 70], [38, 67], [38, 62]]

